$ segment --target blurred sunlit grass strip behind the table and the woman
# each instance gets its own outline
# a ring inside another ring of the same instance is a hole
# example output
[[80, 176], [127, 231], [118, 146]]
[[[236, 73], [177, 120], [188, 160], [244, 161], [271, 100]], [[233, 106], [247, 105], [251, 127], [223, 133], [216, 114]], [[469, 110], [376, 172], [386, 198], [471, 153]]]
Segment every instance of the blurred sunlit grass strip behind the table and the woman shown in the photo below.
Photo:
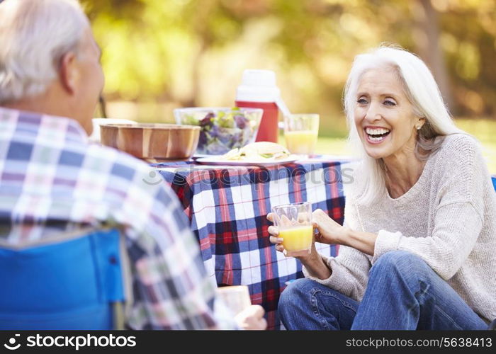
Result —
[[[487, 168], [493, 175], [496, 174], [496, 120], [484, 119], [457, 119], [456, 125], [462, 130], [476, 137], [483, 146], [483, 156]], [[283, 136], [279, 142], [284, 144]], [[319, 137], [317, 154], [347, 155], [351, 154], [346, 147], [346, 137]]]

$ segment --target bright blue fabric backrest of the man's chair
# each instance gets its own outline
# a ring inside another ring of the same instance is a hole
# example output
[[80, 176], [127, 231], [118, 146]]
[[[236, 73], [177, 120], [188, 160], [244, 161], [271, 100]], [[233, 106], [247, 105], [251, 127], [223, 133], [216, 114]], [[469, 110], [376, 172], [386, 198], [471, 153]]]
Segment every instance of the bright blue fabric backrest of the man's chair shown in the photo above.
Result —
[[118, 229], [0, 245], [0, 329], [113, 329], [125, 300]]

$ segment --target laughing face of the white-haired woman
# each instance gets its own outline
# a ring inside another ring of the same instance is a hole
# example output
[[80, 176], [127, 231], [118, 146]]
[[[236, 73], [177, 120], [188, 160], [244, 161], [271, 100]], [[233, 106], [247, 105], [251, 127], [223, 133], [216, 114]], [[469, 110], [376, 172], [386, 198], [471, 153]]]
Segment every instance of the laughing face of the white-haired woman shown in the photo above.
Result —
[[413, 152], [425, 119], [415, 115], [396, 70], [382, 67], [361, 76], [354, 120], [368, 156], [385, 159]]

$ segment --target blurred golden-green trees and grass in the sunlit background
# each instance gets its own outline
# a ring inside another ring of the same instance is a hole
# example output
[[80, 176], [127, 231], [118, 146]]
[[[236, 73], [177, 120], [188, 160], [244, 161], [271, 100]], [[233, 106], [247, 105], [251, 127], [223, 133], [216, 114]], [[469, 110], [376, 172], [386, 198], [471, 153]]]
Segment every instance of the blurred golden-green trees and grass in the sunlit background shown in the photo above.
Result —
[[109, 117], [172, 122], [176, 107], [232, 106], [244, 69], [271, 69], [291, 111], [320, 114], [319, 152], [346, 154], [341, 98], [351, 62], [397, 43], [429, 64], [496, 173], [495, 0], [81, 3], [103, 48]]

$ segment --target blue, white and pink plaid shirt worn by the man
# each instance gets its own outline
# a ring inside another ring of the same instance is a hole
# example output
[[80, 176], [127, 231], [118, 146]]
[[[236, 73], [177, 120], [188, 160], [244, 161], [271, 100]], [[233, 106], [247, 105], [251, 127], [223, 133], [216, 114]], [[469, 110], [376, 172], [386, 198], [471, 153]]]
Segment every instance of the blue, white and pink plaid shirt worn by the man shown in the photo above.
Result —
[[88, 144], [74, 120], [0, 108], [0, 237], [17, 244], [88, 226], [123, 229], [131, 328], [218, 328], [215, 285], [162, 178], [128, 154]]

